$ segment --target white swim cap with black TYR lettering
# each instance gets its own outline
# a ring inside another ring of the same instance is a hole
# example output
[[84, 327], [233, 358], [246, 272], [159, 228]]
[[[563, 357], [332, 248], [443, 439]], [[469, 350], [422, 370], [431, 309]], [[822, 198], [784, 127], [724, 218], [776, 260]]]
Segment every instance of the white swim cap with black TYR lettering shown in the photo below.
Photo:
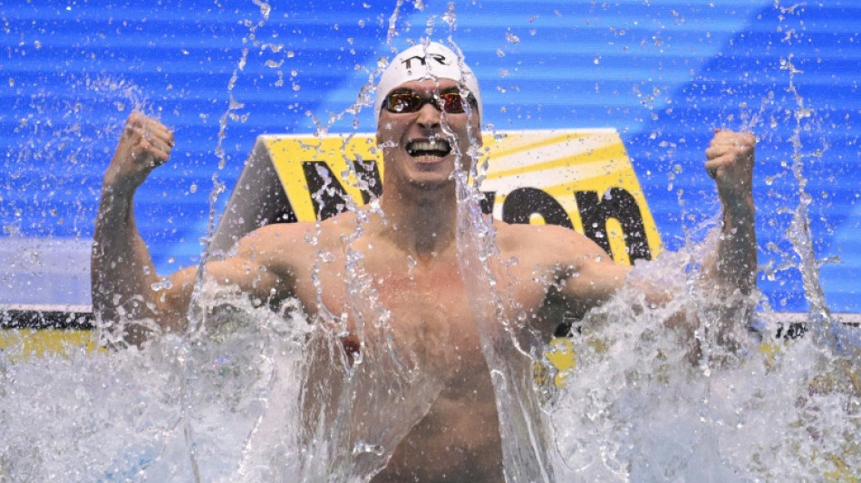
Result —
[[393, 89], [404, 82], [426, 79], [451, 79], [460, 82], [475, 97], [479, 104], [479, 119], [482, 118], [479, 80], [457, 53], [436, 42], [427, 46], [423, 43], [413, 45], [392, 59], [377, 84], [377, 99], [373, 104], [374, 116], [379, 119], [382, 101], [385, 101]]

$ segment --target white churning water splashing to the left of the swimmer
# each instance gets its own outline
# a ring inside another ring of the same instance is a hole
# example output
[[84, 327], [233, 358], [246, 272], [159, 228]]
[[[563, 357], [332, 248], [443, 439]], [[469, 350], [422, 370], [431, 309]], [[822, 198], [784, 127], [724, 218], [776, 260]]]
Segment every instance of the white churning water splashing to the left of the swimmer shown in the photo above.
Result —
[[218, 332], [166, 334], [143, 350], [0, 354], [0, 479], [218, 481], [236, 471], [276, 364], [295, 365], [301, 351], [287, 349], [304, 346], [306, 324], [231, 305]]

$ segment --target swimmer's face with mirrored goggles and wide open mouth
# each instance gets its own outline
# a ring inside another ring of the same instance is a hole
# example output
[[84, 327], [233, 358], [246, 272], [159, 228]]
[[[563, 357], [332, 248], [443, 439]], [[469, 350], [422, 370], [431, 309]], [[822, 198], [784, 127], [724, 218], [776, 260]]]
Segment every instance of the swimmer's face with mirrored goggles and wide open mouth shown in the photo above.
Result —
[[460, 167], [470, 168], [470, 134], [481, 142], [479, 115], [471, 96], [460, 94], [450, 79], [404, 82], [388, 93], [377, 124], [386, 178], [433, 188], [453, 182], [459, 157]]

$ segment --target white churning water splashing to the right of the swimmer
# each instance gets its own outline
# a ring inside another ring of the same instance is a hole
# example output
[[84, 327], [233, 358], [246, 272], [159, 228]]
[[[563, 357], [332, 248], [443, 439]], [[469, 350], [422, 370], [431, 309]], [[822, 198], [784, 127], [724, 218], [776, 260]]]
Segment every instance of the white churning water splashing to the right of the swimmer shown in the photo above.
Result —
[[[666, 258], [640, 275], [679, 273], [680, 257]], [[691, 292], [674, 282], [676, 293]], [[859, 468], [857, 344], [839, 352], [811, 337], [775, 338], [765, 313], [759, 333], [738, 317], [715, 337], [721, 321], [711, 307], [725, 300], [687, 295], [650, 308], [635, 288], [625, 292], [584, 321], [576, 372], [547, 408], [566, 472], [607, 481], [798, 481]], [[678, 313], [699, 319], [695, 337], [668, 329]]]

